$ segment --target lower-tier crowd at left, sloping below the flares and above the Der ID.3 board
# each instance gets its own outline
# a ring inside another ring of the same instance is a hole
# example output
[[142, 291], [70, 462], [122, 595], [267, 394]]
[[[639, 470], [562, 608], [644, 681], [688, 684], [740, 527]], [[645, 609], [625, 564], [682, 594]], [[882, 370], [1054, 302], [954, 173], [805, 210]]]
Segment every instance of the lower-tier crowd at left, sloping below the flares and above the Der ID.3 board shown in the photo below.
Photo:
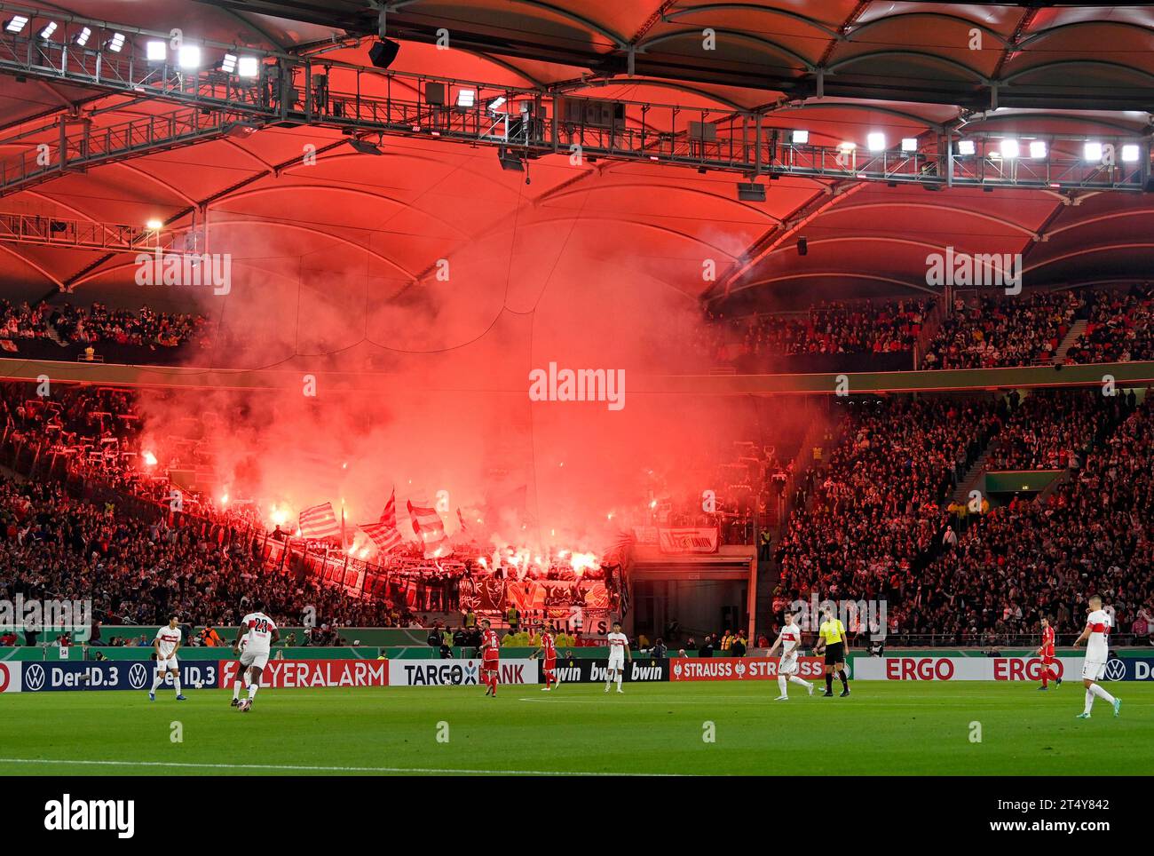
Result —
[[142, 520], [115, 505], [70, 497], [59, 483], [0, 479], [0, 579], [5, 598], [90, 599], [100, 621], [160, 624], [177, 613], [196, 624], [232, 625], [254, 599], [275, 620], [317, 626], [403, 624], [404, 607], [354, 599], [291, 575], [271, 573], [255, 543], [198, 527]]

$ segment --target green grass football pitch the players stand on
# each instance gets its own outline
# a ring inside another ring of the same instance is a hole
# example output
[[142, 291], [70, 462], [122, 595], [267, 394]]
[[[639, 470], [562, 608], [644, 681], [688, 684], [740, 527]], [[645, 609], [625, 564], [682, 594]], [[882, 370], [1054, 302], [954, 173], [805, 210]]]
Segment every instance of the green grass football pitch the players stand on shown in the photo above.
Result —
[[[16, 693], [0, 700], [0, 774], [1085, 775], [1106, 763], [1111, 775], [1138, 775], [1154, 767], [1151, 684], [1108, 684], [1124, 699], [1122, 716], [1099, 700], [1088, 721], [1074, 719], [1077, 682], [1048, 692], [870, 682], [847, 699], [790, 686], [785, 703], [773, 701], [769, 681], [624, 689], [502, 686], [496, 699], [479, 688], [265, 689], [247, 714], [228, 707], [225, 690], [187, 690], [182, 703], [172, 690], [156, 703], [127, 691]], [[174, 721], [180, 743], [170, 738]], [[440, 722], [448, 743], [436, 739]], [[706, 722], [713, 743], [703, 741]], [[972, 722], [981, 723], [980, 743], [971, 742]]]

